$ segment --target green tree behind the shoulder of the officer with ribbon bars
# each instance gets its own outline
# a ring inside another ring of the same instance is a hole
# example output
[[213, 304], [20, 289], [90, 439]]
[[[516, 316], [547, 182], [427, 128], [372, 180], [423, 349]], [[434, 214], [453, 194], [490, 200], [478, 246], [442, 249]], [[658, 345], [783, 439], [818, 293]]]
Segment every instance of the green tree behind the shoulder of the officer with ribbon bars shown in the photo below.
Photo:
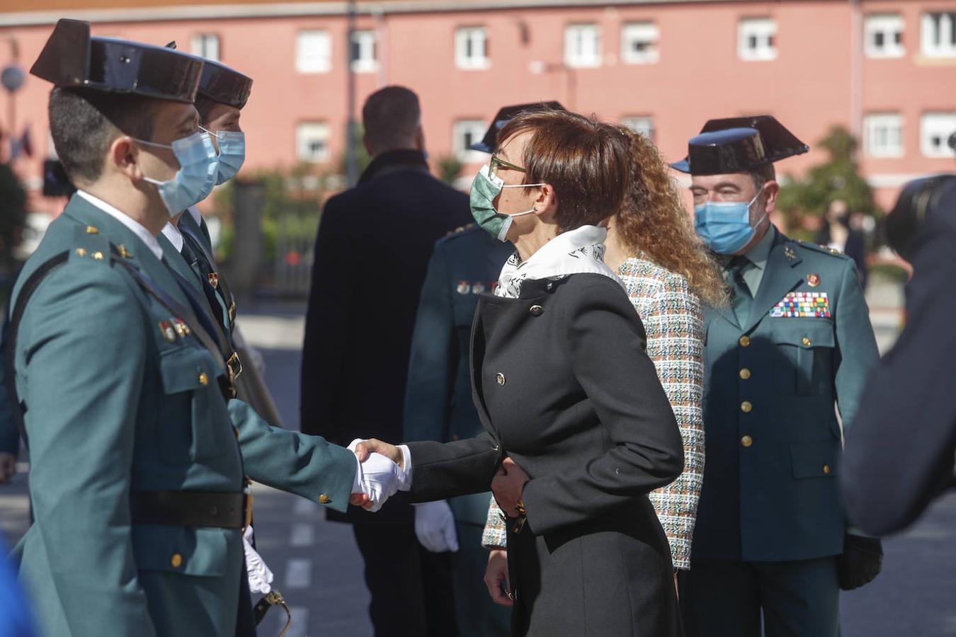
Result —
[[804, 179], [791, 178], [780, 187], [776, 207], [784, 212], [791, 231], [796, 236], [806, 234], [801, 233], [802, 218], [821, 216], [837, 199], [846, 202], [851, 212], [880, 217], [882, 210], [873, 200], [873, 190], [859, 174], [857, 139], [842, 126], [834, 126], [817, 145], [830, 159], [811, 168]]

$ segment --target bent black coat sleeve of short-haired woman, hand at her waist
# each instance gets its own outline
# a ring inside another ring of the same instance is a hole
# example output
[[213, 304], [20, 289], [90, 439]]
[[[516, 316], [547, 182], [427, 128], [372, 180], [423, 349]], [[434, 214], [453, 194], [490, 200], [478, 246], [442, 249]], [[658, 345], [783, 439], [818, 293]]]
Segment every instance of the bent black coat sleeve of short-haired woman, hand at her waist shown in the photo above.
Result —
[[535, 535], [597, 518], [684, 469], [681, 432], [627, 296], [610, 280], [579, 294], [566, 318], [571, 365], [610, 449], [582, 457], [574, 471], [525, 484], [522, 499]]

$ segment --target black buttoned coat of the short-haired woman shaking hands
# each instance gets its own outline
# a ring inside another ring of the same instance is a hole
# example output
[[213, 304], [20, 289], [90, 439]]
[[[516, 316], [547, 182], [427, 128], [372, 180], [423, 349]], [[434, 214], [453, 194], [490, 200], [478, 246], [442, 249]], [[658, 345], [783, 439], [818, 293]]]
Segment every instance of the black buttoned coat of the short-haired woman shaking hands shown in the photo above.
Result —
[[530, 476], [509, 523], [515, 635], [681, 634], [670, 549], [648, 492], [683, 445], [641, 319], [598, 274], [483, 295], [471, 336], [485, 433], [409, 443], [413, 500], [486, 491], [510, 456]]

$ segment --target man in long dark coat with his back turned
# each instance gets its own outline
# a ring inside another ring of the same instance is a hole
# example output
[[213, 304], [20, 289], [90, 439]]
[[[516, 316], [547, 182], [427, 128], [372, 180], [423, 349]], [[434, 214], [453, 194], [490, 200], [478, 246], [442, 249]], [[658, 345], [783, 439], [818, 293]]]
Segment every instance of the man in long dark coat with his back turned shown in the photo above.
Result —
[[[344, 444], [402, 438], [428, 260], [447, 231], [471, 221], [467, 196], [428, 173], [418, 96], [381, 89], [362, 123], [372, 162], [355, 188], [325, 204], [302, 351], [302, 432]], [[450, 556], [420, 546], [407, 501], [329, 519], [353, 524], [376, 635], [455, 634]]]

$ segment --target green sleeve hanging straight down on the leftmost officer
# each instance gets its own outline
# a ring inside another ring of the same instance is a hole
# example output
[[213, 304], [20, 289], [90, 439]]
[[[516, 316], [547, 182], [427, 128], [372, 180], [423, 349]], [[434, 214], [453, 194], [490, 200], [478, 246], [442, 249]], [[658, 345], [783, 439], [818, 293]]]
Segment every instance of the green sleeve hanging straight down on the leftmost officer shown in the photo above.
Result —
[[50, 594], [75, 637], [154, 635], [129, 508], [150, 337], [141, 308], [109, 265], [67, 264], [37, 288], [22, 326], [17, 385], [29, 410], [33, 532]]

